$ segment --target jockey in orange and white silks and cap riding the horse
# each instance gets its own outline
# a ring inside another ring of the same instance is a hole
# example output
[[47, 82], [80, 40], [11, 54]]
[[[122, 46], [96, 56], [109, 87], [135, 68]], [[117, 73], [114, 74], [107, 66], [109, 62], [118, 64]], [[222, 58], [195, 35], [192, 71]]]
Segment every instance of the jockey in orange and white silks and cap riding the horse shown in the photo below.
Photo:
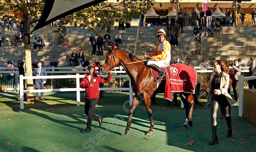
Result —
[[159, 29], [156, 33], [156, 36], [158, 37], [158, 44], [156, 46], [154, 53], [143, 53], [143, 56], [147, 57], [147, 66], [154, 69], [155, 71], [158, 71], [160, 73], [160, 76], [158, 77], [158, 80], [165, 77], [165, 70], [163, 70], [161, 67], [168, 67], [171, 60], [171, 45], [170, 43], [165, 40], [165, 31], [163, 29]]

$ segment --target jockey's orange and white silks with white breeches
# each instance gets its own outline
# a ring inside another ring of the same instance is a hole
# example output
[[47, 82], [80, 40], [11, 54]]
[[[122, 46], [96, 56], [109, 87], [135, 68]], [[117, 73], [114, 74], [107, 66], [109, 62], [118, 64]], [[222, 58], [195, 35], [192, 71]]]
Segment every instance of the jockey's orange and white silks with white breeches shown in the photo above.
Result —
[[171, 60], [171, 45], [167, 40], [163, 43], [158, 42], [154, 53], [149, 53], [151, 60], [148, 60], [147, 64], [155, 64], [158, 67], [169, 66]]

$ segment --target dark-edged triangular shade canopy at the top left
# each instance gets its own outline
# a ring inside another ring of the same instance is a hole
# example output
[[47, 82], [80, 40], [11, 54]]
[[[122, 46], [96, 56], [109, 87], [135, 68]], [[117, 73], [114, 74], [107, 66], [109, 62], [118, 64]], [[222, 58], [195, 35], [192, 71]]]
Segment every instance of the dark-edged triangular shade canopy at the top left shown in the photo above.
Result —
[[74, 12], [104, 1], [105, 0], [45, 0], [42, 16], [33, 31]]

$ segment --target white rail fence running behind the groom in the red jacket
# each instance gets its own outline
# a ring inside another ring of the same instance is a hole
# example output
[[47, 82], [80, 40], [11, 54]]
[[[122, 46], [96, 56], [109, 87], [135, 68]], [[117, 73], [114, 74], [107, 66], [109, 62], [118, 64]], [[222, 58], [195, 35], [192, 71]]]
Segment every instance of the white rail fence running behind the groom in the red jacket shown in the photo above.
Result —
[[[101, 75], [103, 78], [107, 78], [107, 75]], [[76, 88], [59, 88], [59, 89], [37, 89], [37, 90], [24, 90], [23, 88], [23, 80], [24, 79], [61, 79], [61, 78], [76, 78]], [[80, 78], [84, 78], [84, 74], [76, 74], [76, 75], [53, 75], [53, 76], [26, 76], [20, 75], [20, 109], [24, 109], [24, 93], [35, 93], [35, 92], [70, 92], [76, 91], [76, 102], [77, 106], [80, 105], [80, 91], [84, 91], [85, 89], [80, 88]], [[112, 78], [129, 78], [128, 75], [118, 75], [112, 76]], [[130, 78], [129, 78], [130, 81]], [[130, 81], [129, 88], [99, 88], [99, 90], [120, 90], [120, 91], [129, 91], [129, 101], [130, 105], [132, 104], [133, 98], [133, 90], [131, 88]]]

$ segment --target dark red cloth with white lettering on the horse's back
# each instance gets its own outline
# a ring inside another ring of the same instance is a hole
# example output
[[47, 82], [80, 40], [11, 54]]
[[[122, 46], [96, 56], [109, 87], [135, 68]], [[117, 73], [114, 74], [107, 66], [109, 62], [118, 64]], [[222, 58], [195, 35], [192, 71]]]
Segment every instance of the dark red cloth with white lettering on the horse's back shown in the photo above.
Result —
[[[169, 67], [163, 67], [166, 72], [165, 99], [172, 101], [172, 92], [195, 93], [197, 74], [193, 67], [186, 64], [171, 64]], [[152, 69], [154, 79], [158, 72]]]

